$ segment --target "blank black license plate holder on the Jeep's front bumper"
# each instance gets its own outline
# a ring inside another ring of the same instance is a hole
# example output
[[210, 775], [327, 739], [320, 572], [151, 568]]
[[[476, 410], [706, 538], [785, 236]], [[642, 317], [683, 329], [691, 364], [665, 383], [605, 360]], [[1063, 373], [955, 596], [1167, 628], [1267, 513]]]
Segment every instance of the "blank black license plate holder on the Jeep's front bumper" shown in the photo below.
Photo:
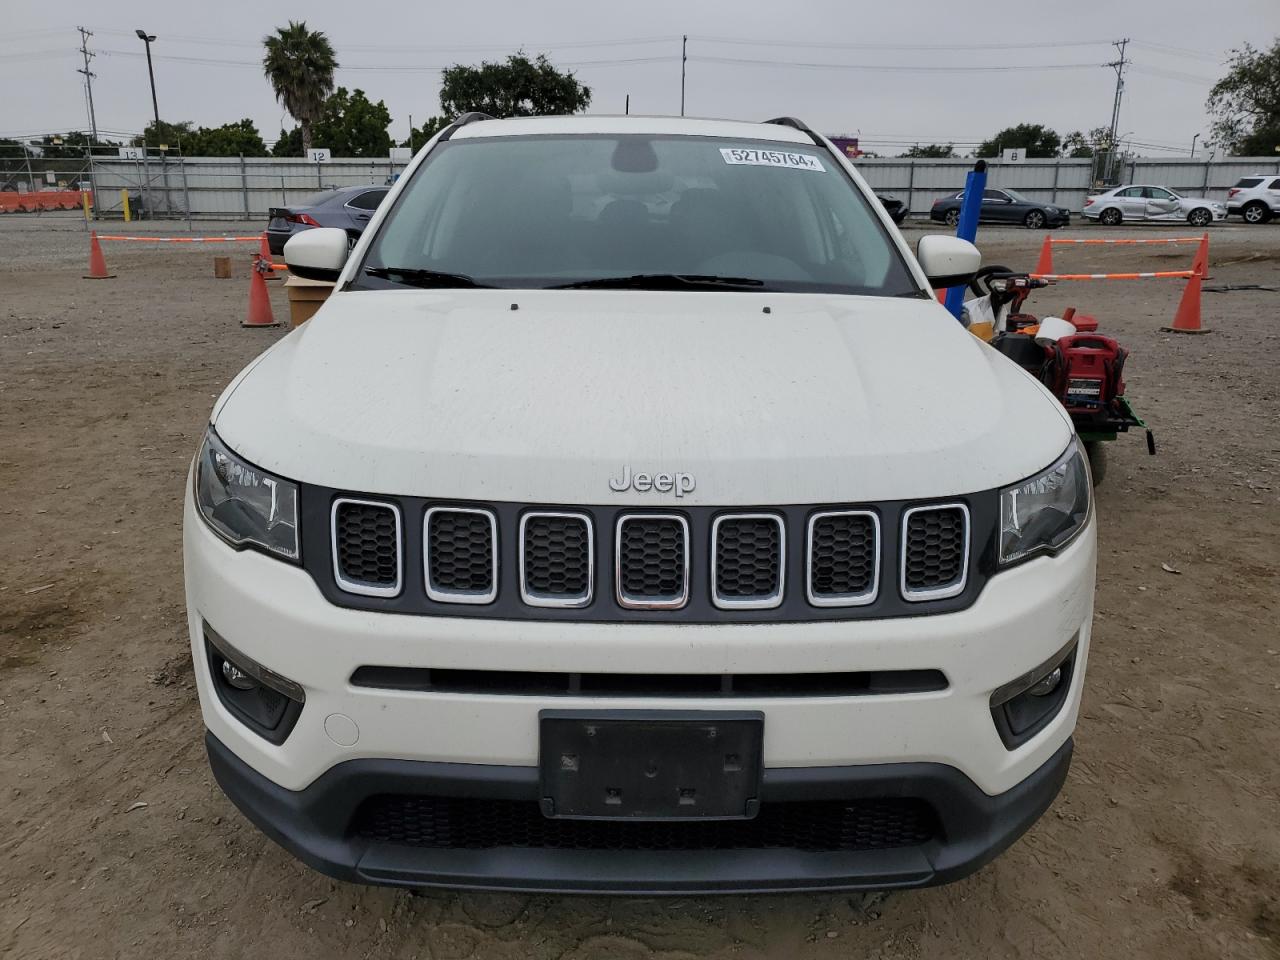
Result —
[[759, 806], [762, 713], [543, 710], [539, 727], [547, 817], [730, 820]]

